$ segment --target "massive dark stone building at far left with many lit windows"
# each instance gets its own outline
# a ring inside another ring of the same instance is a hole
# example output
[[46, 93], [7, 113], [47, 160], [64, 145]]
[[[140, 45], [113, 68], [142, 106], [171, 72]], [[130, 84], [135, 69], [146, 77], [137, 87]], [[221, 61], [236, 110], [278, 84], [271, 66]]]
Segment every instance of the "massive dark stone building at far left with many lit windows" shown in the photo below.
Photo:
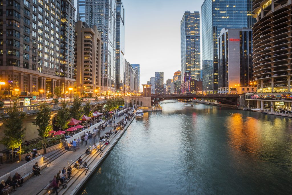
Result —
[[46, 97], [73, 87], [73, 1], [1, 1], [0, 8], [1, 95]]

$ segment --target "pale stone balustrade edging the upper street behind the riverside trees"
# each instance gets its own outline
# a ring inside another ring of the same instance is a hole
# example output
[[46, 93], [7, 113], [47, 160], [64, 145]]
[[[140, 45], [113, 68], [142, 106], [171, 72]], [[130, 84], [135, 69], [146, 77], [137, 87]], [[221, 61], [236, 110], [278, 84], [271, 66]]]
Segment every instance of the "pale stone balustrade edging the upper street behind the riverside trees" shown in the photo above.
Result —
[[[83, 101], [81, 103], [81, 106], [84, 106], [89, 101]], [[92, 100], [92, 101], [90, 101], [90, 105], [106, 103], [106, 102], [107, 102], [107, 100]], [[59, 110], [62, 107], [62, 103], [49, 103], [48, 105], [51, 107], [51, 110]], [[71, 108], [72, 106], [73, 106], [73, 102], [67, 103], [67, 107]], [[6, 114], [7, 108], [8, 107], [0, 108], [0, 114]], [[38, 111], [38, 110], [39, 110], [39, 105], [18, 107], [18, 111], [22, 111], [22, 112], [31, 112], [31, 111]]]

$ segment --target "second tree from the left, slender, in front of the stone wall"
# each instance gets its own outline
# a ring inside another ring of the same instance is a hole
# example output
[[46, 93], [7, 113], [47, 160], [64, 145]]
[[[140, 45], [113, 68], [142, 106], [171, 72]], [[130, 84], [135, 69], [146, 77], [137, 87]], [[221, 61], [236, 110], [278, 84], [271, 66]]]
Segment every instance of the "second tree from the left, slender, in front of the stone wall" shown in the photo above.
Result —
[[[42, 138], [46, 138], [49, 135], [49, 131], [52, 130], [52, 126], [48, 127], [51, 122], [51, 107], [46, 103], [39, 104], [39, 112], [36, 114], [35, 121], [32, 122], [33, 125], [38, 126], [37, 129], [39, 132], [39, 136]], [[45, 149], [46, 149], [46, 141], [45, 141]]]

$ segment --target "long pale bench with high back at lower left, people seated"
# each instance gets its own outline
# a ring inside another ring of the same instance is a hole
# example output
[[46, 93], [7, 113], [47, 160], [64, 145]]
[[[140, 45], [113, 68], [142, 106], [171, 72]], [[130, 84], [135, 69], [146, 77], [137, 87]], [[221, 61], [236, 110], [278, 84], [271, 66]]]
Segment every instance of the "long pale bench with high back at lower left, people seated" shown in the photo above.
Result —
[[32, 166], [35, 165], [36, 162], [39, 164], [39, 168], [42, 170], [46, 168], [48, 165], [48, 160], [45, 160], [46, 157], [39, 156], [37, 158], [32, 159], [31, 161], [25, 163], [24, 165], [21, 165], [20, 167], [12, 170], [9, 173], [6, 173], [5, 175], [0, 177], [1, 180], [7, 180], [8, 176], [13, 177], [16, 172], [18, 172], [19, 175], [23, 178], [23, 181], [28, 180], [30, 177], [34, 175], [34, 172], [32, 171]]

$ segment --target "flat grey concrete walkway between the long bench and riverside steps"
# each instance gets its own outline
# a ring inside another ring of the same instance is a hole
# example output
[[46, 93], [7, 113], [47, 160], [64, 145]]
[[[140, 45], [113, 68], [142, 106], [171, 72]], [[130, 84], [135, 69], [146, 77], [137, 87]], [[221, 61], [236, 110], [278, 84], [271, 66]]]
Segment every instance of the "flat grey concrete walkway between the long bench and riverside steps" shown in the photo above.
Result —
[[[116, 124], [125, 116], [126, 115], [122, 115], [121, 117], [116, 118]], [[113, 127], [105, 127], [105, 130], [100, 132], [100, 136], [105, 135], [105, 133], [108, 132], [110, 129], [113, 129]], [[99, 141], [99, 138], [96, 139], [96, 141]], [[91, 144], [89, 144], [89, 140], [88, 140], [87, 145], [92, 146], [93, 140]], [[54, 159], [54, 161], [51, 163], [50, 166], [44, 168], [41, 171], [40, 176], [31, 177], [30, 179], [28, 179], [26, 182], [23, 183], [23, 187], [17, 188], [18, 193], [20, 192], [22, 194], [37, 194], [53, 179], [54, 175], [56, 175], [59, 172], [59, 170], [62, 170], [63, 167], [68, 166], [67, 161], [69, 160], [76, 161], [80, 156], [82, 156], [82, 154], [85, 153], [86, 149], [87, 149], [86, 146], [83, 144], [80, 146], [80, 149], [77, 149], [75, 152], [67, 151], [62, 156]], [[70, 161], [69, 164], [71, 164], [72, 161]], [[17, 164], [17, 165], [20, 166], [20, 164]], [[4, 174], [6, 174], [7, 172], [8, 171], [6, 171]], [[1, 174], [1, 175], [4, 175], [4, 174]], [[11, 194], [16, 194], [16, 193], [12, 191]]]

